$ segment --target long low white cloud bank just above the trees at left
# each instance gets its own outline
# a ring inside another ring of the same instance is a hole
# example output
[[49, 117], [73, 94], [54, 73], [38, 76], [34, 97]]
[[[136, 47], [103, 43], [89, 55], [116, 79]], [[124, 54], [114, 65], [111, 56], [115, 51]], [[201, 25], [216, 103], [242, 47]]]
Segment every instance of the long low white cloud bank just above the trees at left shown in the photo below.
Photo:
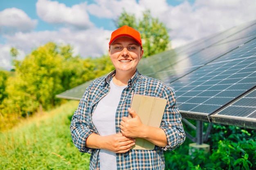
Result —
[[13, 36], [5, 36], [6, 44], [0, 44], [0, 67], [10, 68], [11, 47], [19, 50], [18, 60], [22, 60], [25, 54], [31, 53], [38, 46], [49, 41], [57, 44], [70, 44], [74, 48], [74, 55], [81, 57], [100, 57], [108, 52], [108, 42], [111, 31], [93, 28], [72, 32], [70, 29], [59, 31], [40, 31], [31, 33], [18, 32]]

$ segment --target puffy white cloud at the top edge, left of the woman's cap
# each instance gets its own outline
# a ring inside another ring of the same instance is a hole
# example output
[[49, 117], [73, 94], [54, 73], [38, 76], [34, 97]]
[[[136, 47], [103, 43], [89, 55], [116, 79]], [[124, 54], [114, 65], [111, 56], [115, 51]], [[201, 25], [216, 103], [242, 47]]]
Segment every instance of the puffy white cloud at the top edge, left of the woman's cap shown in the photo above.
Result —
[[38, 0], [36, 2], [38, 16], [51, 24], [64, 24], [76, 29], [88, 29], [94, 24], [86, 11], [86, 3], [66, 7], [57, 1]]

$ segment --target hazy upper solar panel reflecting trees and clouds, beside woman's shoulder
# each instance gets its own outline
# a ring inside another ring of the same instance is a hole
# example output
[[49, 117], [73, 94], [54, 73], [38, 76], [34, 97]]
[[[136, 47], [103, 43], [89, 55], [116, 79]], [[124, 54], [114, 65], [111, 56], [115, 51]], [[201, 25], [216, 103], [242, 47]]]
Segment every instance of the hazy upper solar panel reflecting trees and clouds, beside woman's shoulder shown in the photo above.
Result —
[[[207, 39], [207, 43], [201, 42], [202, 49], [196, 51], [186, 51], [180, 48], [148, 57], [146, 60], [141, 60], [138, 69], [149, 77], [161, 79], [163, 82], [172, 82], [256, 38], [255, 23], [246, 29], [242, 27], [242, 29], [238, 31], [237, 28], [233, 28], [231, 31], [225, 31], [225, 37], [222, 37], [222, 40], [220, 40], [222, 34], [219, 34], [217, 38]], [[238, 33], [234, 34], [234, 30]]]

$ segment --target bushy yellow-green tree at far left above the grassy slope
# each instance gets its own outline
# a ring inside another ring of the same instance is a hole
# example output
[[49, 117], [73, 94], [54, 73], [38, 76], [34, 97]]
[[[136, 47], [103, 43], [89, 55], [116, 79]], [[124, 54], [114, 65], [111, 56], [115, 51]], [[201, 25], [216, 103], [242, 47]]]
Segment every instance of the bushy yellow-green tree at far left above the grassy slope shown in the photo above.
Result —
[[52, 42], [32, 51], [25, 59], [15, 64], [15, 76], [7, 82], [7, 114], [19, 113], [26, 117], [40, 107], [54, 106], [56, 93], [61, 92], [61, 68], [63, 57], [58, 46]]

